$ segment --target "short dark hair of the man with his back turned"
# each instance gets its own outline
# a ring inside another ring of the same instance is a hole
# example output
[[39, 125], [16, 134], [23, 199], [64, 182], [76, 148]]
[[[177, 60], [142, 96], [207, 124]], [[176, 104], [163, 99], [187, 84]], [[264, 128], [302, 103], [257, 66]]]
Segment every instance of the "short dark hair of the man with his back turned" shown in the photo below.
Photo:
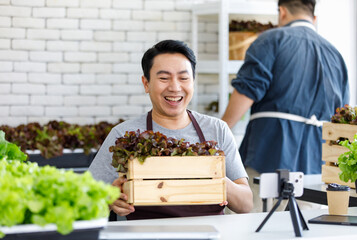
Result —
[[285, 6], [292, 14], [305, 13], [315, 16], [316, 0], [279, 0], [278, 6]]

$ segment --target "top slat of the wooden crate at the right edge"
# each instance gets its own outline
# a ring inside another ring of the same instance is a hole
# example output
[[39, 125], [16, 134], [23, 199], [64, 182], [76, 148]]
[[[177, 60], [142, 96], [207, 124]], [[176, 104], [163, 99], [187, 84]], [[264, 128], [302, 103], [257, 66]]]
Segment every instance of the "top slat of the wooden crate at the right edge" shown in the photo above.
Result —
[[336, 141], [340, 137], [353, 141], [357, 133], [357, 125], [342, 123], [324, 123], [322, 128], [322, 139]]

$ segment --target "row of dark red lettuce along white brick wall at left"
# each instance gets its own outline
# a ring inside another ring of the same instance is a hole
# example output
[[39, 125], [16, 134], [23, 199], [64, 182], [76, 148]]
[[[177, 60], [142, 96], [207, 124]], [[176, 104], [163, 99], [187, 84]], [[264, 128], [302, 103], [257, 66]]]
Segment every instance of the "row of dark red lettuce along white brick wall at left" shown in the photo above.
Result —
[[[123, 121], [120, 119], [118, 123]], [[89, 154], [91, 149], [99, 149], [116, 124], [100, 122], [80, 126], [50, 121], [44, 126], [38, 123], [22, 124], [16, 128], [2, 125], [0, 130], [6, 133], [8, 141], [20, 146], [22, 151], [39, 149], [42, 156], [48, 159], [61, 156], [64, 148], [82, 148], [85, 154]]]

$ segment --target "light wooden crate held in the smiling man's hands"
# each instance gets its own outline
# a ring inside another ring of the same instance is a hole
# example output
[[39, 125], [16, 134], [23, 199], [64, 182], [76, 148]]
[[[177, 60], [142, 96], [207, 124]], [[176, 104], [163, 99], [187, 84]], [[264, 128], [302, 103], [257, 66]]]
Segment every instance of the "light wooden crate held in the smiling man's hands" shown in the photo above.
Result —
[[219, 204], [224, 178], [224, 156], [149, 157], [129, 160], [123, 191], [136, 206]]

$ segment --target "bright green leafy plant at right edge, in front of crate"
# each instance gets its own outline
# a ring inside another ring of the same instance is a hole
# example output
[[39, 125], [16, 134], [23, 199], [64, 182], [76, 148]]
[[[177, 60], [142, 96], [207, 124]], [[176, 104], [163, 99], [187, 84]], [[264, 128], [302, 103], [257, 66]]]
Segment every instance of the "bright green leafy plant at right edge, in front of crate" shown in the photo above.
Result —
[[341, 170], [339, 177], [344, 182], [348, 180], [355, 182], [357, 180], [357, 134], [352, 143], [345, 140], [340, 142], [340, 145], [348, 148], [349, 151], [338, 157], [338, 167]]

